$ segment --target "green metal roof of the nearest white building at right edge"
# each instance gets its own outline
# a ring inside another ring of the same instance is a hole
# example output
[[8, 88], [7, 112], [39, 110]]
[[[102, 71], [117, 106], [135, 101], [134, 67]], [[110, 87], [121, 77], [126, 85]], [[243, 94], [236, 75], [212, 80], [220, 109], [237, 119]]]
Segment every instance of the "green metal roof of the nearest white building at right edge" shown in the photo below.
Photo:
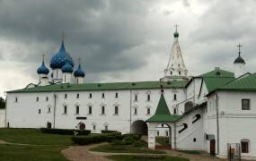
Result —
[[256, 91], [256, 73], [243, 77], [240, 79], [233, 80], [223, 87], [218, 89], [222, 90], [253, 90]]

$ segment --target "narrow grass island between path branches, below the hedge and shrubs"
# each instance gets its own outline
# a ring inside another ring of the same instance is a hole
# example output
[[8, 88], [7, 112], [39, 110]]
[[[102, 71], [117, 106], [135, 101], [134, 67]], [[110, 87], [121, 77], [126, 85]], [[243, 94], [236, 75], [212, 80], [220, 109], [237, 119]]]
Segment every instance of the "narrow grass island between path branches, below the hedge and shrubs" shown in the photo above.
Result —
[[135, 148], [130, 146], [111, 146], [103, 145], [96, 148], [91, 148], [91, 151], [110, 152], [110, 153], [146, 153], [146, 154], [165, 154], [166, 152], [160, 150], [153, 150], [149, 148]]

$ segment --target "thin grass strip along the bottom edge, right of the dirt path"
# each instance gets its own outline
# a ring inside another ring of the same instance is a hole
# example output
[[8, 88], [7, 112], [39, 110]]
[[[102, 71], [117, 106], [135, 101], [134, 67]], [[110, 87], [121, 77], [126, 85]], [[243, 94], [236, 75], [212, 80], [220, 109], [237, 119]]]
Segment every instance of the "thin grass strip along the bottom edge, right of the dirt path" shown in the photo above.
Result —
[[183, 157], [166, 157], [166, 156], [122, 156], [115, 155], [108, 158], [116, 161], [190, 161], [188, 158]]

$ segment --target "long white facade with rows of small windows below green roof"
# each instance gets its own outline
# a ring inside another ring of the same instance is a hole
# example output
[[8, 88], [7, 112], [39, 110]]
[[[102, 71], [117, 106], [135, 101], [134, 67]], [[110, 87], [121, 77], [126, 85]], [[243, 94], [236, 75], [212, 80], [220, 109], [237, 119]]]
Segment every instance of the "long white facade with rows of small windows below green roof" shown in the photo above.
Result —
[[[90, 93], [92, 98], [89, 98]], [[105, 95], [104, 98], [102, 93]], [[118, 98], [115, 97], [116, 93], [119, 95]], [[76, 98], [77, 94], [79, 98]], [[149, 101], [147, 101], [148, 94]], [[177, 100], [173, 100], [174, 94], [177, 95]], [[93, 132], [101, 132], [105, 125], [108, 125], [109, 130], [127, 133], [132, 123], [137, 120], [146, 121], [154, 115], [161, 89], [68, 91], [56, 92], [56, 96], [56, 128], [74, 129], [78, 123], [83, 122], [86, 129], [92, 131], [95, 125], [96, 130]], [[15, 102], [15, 97], [18, 97], [18, 102]], [[37, 97], [39, 97], [38, 102]], [[49, 97], [49, 101], [46, 101], [46, 97]], [[184, 100], [185, 92], [184, 89], [164, 89], [164, 97], [170, 112], [173, 113], [176, 104]], [[52, 123], [53, 127], [54, 103], [53, 92], [8, 93], [7, 122], [10, 123], [10, 127], [40, 128], [46, 127], [48, 122]], [[64, 106], [67, 108], [66, 114], [64, 114]], [[79, 106], [79, 114], [75, 114], [76, 106]], [[92, 106], [92, 114], [88, 114], [88, 106]], [[102, 106], [105, 106], [105, 114], [102, 114]], [[119, 106], [119, 114], [114, 114], [115, 106]], [[48, 113], [49, 108], [50, 113]], [[137, 108], [137, 114], [134, 114], [134, 108]], [[150, 114], [147, 114], [147, 108], [150, 108]], [[86, 117], [86, 120], [77, 120], [77, 116]], [[165, 135], [165, 130], [161, 129], [160, 133]]]

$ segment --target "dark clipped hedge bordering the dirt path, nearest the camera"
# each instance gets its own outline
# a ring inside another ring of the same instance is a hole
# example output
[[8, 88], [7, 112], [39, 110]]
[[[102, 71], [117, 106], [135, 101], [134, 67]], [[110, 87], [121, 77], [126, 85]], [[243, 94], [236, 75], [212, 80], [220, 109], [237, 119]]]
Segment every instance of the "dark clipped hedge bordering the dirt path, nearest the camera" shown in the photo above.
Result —
[[110, 132], [110, 133], [102, 133], [102, 134], [95, 134], [95, 135], [88, 135], [88, 136], [73, 136], [71, 140], [75, 144], [79, 145], [87, 145], [93, 143], [100, 143], [105, 141], [112, 141], [112, 140], [122, 140], [123, 136], [121, 132]]

